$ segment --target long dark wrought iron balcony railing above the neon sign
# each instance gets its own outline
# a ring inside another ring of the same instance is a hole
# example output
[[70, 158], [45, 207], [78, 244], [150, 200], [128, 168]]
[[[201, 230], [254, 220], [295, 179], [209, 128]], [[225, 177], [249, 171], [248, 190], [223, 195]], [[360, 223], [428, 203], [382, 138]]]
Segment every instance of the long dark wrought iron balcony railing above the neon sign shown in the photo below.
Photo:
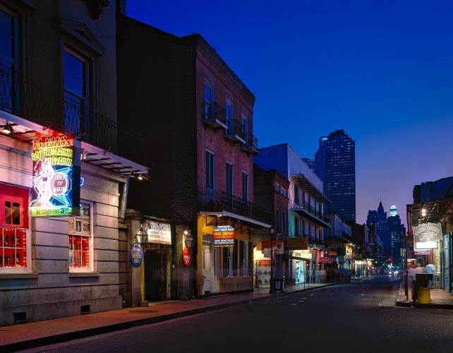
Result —
[[73, 133], [103, 150], [146, 164], [145, 136], [3, 65], [0, 109], [61, 133]]

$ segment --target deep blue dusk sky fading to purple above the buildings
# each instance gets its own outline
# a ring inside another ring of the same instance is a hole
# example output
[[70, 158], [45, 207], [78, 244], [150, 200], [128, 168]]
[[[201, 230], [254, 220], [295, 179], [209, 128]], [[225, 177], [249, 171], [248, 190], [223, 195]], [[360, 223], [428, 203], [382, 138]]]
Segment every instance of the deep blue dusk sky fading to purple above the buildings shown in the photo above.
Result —
[[406, 225], [416, 184], [453, 176], [452, 0], [128, 0], [128, 16], [198, 33], [256, 97], [258, 147], [313, 158], [356, 141], [356, 222], [380, 201]]

